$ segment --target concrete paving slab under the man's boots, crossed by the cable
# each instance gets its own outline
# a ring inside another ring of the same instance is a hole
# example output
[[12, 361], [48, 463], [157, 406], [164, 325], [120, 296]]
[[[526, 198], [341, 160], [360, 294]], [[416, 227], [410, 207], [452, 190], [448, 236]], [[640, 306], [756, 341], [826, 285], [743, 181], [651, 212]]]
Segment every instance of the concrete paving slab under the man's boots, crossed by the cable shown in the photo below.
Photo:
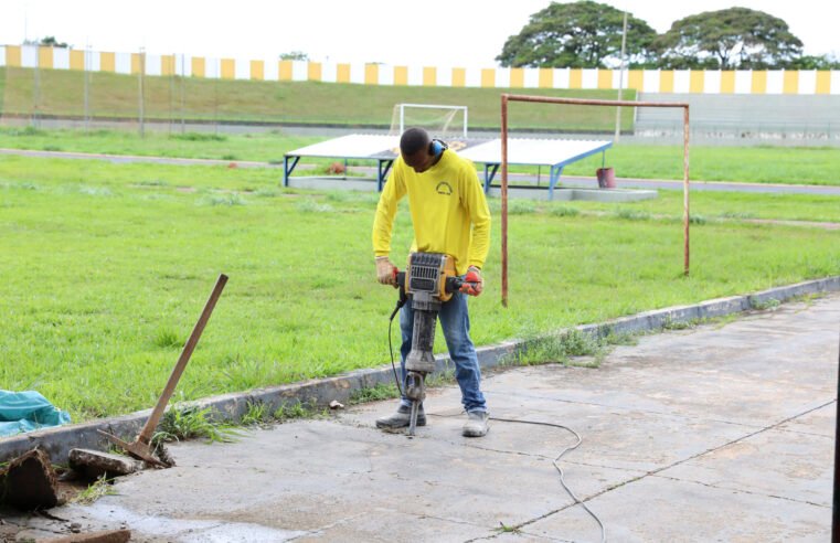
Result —
[[[542, 366], [533, 370], [539, 372], [562, 369]], [[723, 446], [744, 433], [758, 429], [725, 422], [589, 405], [546, 396], [493, 393], [500, 382], [519, 381], [520, 376], [520, 370], [515, 370], [495, 374], [487, 381], [487, 394], [492, 406], [491, 416], [545, 422], [574, 429], [582, 436], [584, 445], [570, 455], [567, 461], [584, 464], [589, 468], [598, 466], [647, 472], [704, 453], [710, 444]], [[453, 405], [457, 398], [457, 393], [448, 391], [446, 394], [427, 398], [429, 426], [418, 428], [418, 437], [435, 436], [468, 447], [546, 459], [555, 458], [576, 441], [574, 434], [567, 429], [497, 420], [490, 422], [490, 433], [486, 438], [462, 438], [460, 425], [464, 417], [456, 416], [458, 408], [436, 408], [438, 405]], [[363, 412], [364, 416], [360, 416], [358, 420], [371, 426], [378, 416], [391, 409], [393, 405], [387, 405], [386, 408], [369, 407]], [[437, 416], [438, 413], [443, 416]]]

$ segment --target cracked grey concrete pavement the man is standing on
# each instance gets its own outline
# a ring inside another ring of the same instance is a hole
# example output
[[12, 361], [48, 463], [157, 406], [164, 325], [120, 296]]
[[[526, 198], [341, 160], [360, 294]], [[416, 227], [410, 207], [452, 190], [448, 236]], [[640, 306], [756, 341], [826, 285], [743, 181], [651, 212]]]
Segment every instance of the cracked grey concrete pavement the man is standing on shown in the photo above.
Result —
[[[568, 426], [561, 460], [609, 541], [827, 541], [840, 295], [617, 348], [598, 369], [488, 374], [491, 415]], [[457, 387], [432, 391], [417, 437], [393, 402], [172, 447], [178, 466], [116, 496], [8, 518], [19, 537], [130, 528], [132, 541], [599, 541], [552, 460], [561, 428], [492, 422], [460, 436]]]

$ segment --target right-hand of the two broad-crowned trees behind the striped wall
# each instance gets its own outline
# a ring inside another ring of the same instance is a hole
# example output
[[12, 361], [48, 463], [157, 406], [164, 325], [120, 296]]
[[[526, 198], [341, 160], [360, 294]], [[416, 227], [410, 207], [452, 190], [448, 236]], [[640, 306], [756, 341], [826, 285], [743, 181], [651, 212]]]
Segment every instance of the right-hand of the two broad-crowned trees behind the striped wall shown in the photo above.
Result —
[[706, 11], [680, 19], [655, 47], [661, 67], [766, 70], [802, 54], [802, 42], [785, 21], [747, 8]]

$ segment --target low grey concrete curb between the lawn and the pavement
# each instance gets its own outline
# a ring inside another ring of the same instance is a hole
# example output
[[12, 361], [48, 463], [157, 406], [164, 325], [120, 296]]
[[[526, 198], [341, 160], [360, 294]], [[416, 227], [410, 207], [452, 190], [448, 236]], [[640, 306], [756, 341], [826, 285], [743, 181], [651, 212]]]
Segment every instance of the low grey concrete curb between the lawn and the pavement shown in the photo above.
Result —
[[[798, 283], [785, 287], [772, 288], [746, 296], [733, 296], [703, 301], [692, 306], [676, 306], [653, 311], [646, 311], [631, 317], [623, 317], [604, 323], [584, 324], [575, 329], [585, 334], [603, 337], [608, 333], [640, 333], [660, 330], [666, 324], [685, 323], [715, 317], [744, 312], [751, 309], [772, 306], [800, 296], [826, 294], [840, 290], [840, 276]], [[499, 365], [506, 356], [524, 352], [528, 342], [523, 340], [504, 341], [495, 345], [477, 349], [478, 360], [482, 368]], [[454, 369], [451, 360], [446, 355], [436, 358], [436, 373]], [[213, 396], [195, 403], [200, 408], [211, 407], [216, 417], [223, 420], [238, 420], [246, 412], [249, 403], [262, 402], [272, 412], [281, 405], [298, 403], [326, 406], [331, 401], [345, 403], [350, 395], [378, 383], [393, 382], [390, 365], [358, 370], [334, 377], [305, 381], [283, 386], [254, 388], [242, 393]], [[31, 432], [0, 439], [0, 461], [18, 457], [30, 449], [40, 447], [50, 455], [56, 464], [66, 462], [73, 448], [104, 450], [108, 441], [98, 433], [103, 429], [116, 436], [134, 440], [139, 434], [151, 409], [140, 411], [124, 416], [92, 420], [88, 423], [61, 426], [45, 430]]]

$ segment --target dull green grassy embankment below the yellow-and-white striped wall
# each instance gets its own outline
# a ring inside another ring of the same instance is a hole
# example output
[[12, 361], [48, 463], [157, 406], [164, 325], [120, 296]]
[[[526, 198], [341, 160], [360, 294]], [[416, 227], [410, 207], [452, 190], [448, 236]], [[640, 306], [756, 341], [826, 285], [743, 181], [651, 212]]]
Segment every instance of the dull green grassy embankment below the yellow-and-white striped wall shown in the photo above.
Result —
[[[136, 119], [139, 84], [136, 75], [89, 73], [88, 115]], [[84, 117], [85, 73], [41, 70], [36, 84], [32, 68], [0, 67], [0, 114]], [[320, 82], [260, 82], [199, 77], [143, 78], [147, 119], [320, 124], [338, 126], [391, 125], [401, 103], [469, 106], [470, 128], [498, 128], [500, 94], [522, 89], [358, 85]], [[615, 91], [528, 89], [529, 94], [616, 98]], [[625, 99], [636, 92], [625, 89]], [[621, 111], [621, 126], [632, 127], [632, 109]], [[614, 108], [511, 105], [511, 126], [530, 129], [612, 131]]]

